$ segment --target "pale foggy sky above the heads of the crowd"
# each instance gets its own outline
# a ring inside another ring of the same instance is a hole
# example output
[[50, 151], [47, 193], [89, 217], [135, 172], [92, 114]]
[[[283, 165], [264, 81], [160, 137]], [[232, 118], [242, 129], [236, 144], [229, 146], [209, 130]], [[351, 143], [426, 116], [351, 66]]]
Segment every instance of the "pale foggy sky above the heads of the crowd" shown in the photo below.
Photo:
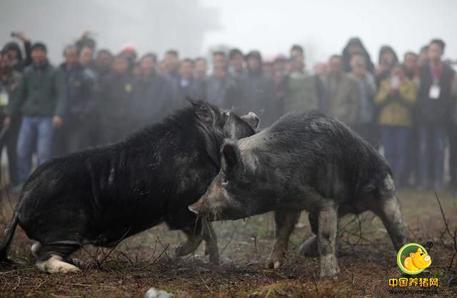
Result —
[[[390, 44], [402, 60], [431, 38], [446, 41], [445, 58], [456, 60], [455, 0], [265, 1], [265, 0], [0, 0], [0, 42], [12, 30], [44, 41], [53, 63], [61, 51], [94, 32], [97, 48], [117, 52], [127, 44], [139, 54], [161, 57], [169, 48], [181, 56], [206, 55], [218, 46], [258, 48], [263, 55], [288, 53], [292, 43], [305, 47], [308, 68], [341, 53], [348, 38], [359, 36], [377, 62]], [[5, 26], [7, 25], [7, 26]]]

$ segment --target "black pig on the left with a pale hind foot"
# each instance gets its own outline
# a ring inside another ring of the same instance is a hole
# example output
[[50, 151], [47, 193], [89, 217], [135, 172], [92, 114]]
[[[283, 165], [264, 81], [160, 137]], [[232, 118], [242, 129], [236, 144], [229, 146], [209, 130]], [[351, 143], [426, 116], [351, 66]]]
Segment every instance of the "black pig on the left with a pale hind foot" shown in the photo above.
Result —
[[210, 260], [217, 262], [211, 225], [196, 222], [188, 206], [217, 175], [224, 138], [253, 135], [258, 118], [250, 114], [243, 120], [204, 101], [188, 100], [191, 107], [119, 143], [36, 168], [22, 189], [0, 260], [7, 258], [18, 224], [36, 240], [37, 266], [54, 273], [79, 271], [65, 260], [82, 245], [113, 246], [166, 222], [189, 238], [176, 255], [193, 252], [204, 239]]

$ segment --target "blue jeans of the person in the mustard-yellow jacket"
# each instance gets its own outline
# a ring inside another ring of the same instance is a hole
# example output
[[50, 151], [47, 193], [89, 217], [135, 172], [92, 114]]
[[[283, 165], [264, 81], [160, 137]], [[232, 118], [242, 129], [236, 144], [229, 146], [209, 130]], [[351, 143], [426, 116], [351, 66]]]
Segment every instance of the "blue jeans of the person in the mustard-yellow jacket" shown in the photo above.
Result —
[[401, 185], [408, 160], [409, 128], [383, 125], [381, 131], [384, 156], [391, 166], [396, 185]]

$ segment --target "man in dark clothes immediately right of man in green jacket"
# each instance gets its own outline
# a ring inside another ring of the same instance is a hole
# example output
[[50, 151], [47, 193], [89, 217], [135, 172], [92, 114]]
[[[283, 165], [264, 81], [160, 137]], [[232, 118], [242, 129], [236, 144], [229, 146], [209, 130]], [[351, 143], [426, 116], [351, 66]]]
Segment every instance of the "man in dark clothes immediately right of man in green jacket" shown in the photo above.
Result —
[[56, 153], [65, 154], [89, 147], [95, 103], [95, 76], [78, 61], [76, 46], [64, 50], [59, 71], [66, 86], [65, 122], [56, 132]]

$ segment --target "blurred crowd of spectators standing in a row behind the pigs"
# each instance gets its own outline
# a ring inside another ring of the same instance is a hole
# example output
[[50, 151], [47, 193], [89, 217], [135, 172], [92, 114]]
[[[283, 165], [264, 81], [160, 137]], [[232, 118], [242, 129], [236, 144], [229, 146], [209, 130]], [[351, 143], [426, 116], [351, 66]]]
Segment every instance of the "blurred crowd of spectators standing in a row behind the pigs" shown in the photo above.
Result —
[[[442, 61], [445, 43], [433, 39], [399, 61], [382, 46], [375, 65], [359, 38], [341, 54], [306, 67], [303, 47], [264, 60], [260, 51], [214, 51], [211, 59], [181, 58], [169, 50], [139, 57], [96, 48], [84, 34], [53, 66], [46, 44], [14, 34], [0, 53], [0, 148], [16, 189], [56, 155], [114, 143], [154, 123], [191, 96], [238, 113], [253, 111], [263, 127], [284, 113], [318, 109], [380, 148], [398, 187], [440, 189], [449, 148], [449, 186], [457, 186], [456, 76]], [[208, 61], [209, 60], [209, 61]], [[211, 68], [211, 69], [209, 69]], [[357, 158], [348, 156], [348, 158]]]

